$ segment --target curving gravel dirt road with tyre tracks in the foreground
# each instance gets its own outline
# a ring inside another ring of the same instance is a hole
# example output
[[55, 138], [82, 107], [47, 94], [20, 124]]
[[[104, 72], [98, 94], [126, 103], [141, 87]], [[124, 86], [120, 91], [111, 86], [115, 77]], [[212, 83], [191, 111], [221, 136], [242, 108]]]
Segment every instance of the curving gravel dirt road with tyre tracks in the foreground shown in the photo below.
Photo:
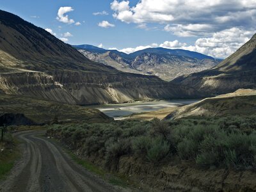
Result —
[[44, 132], [20, 132], [22, 161], [0, 185], [0, 191], [122, 191], [74, 163], [58, 143], [39, 137]]

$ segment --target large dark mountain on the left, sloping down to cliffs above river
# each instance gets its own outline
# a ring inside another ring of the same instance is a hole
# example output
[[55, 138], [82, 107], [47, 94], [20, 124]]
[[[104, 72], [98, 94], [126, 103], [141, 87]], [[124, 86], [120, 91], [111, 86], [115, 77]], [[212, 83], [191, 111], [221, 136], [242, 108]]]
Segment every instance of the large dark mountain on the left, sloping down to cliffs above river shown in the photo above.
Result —
[[17, 15], [0, 11], [0, 93], [68, 104], [196, 97], [156, 76], [120, 72]]

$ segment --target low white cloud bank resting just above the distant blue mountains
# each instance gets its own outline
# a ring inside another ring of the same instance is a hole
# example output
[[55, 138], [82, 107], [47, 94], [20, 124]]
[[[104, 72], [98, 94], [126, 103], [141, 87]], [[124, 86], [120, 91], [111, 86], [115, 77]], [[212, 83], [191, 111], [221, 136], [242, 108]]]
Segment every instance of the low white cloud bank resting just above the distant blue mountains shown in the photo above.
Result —
[[202, 54], [212, 56], [214, 58], [227, 58], [237, 51], [239, 47], [248, 42], [252, 37], [253, 32], [239, 28], [225, 29], [214, 33], [211, 37], [198, 38], [193, 45], [179, 42], [179, 40], [165, 41], [162, 44], [151, 44], [138, 47], [129, 47], [118, 51], [127, 54], [150, 47], [163, 47], [167, 49], [185, 49], [196, 51]]

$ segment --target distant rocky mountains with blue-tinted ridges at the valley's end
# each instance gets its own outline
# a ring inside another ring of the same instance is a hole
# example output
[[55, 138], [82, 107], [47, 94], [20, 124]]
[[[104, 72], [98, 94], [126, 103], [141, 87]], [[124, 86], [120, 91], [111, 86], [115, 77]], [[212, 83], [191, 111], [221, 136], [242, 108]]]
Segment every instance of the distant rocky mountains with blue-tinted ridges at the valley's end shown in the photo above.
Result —
[[90, 60], [104, 63], [123, 72], [155, 75], [170, 81], [175, 77], [200, 72], [216, 66], [221, 60], [182, 49], [148, 48], [125, 54], [93, 45], [73, 45]]

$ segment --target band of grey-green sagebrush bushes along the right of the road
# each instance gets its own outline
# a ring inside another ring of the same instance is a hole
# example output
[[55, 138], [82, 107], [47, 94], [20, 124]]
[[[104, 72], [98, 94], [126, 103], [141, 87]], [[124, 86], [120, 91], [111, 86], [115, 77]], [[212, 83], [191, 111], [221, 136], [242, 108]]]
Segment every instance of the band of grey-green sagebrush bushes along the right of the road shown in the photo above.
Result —
[[182, 118], [149, 122], [50, 125], [47, 134], [79, 148], [85, 156], [116, 166], [120, 156], [157, 164], [179, 156], [196, 164], [256, 168], [256, 118]]

